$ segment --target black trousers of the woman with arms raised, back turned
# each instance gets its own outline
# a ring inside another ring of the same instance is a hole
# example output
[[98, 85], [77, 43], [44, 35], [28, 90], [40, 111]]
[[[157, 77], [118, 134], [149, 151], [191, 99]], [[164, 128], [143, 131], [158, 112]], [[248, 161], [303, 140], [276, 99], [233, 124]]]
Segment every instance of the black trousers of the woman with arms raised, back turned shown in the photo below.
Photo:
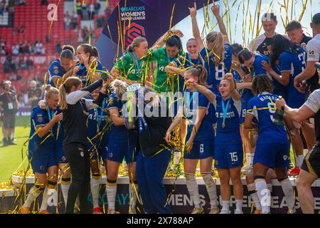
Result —
[[85, 145], [78, 142], [64, 145], [63, 150], [68, 158], [72, 175], [65, 213], [74, 213], [75, 200], [79, 195], [80, 213], [91, 214], [92, 207], [87, 201], [87, 197], [90, 194], [90, 153]]

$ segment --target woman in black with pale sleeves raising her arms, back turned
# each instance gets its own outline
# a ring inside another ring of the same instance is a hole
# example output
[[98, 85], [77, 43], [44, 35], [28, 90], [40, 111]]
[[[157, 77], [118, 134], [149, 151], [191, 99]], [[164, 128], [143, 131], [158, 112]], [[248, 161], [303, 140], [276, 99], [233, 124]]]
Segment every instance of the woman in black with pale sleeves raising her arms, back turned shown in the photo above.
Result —
[[[92, 213], [87, 202], [90, 192], [90, 154], [87, 151], [87, 110], [97, 108], [105, 98], [107, 85], [112, 78], [103, 83], [102, 79], [81, 89], [81, 80], [77, 77], [67, 78], [60, 86], [59, 105], [63, 110], [65, 137], [63, 150], [67, 155], [73, 180], [68, 191], [66, 213], [73, 213], [75, 199], [79, 195], [80, 213]], [[84, 97], [102, 86], [102, 93], [97, 100]]]

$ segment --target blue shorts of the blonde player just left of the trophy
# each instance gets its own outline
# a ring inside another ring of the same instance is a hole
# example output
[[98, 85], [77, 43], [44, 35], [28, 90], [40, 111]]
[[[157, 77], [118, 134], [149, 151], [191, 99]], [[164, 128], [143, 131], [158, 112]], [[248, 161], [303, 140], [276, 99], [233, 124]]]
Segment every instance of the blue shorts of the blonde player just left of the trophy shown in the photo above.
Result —
[[122, 162], [123, 158], [125, 157], [127, 163], [136, 162], [138, 134], [129, 133], [127, 136], [127, 139], [119, 140], [110, 134], [107, 160]]

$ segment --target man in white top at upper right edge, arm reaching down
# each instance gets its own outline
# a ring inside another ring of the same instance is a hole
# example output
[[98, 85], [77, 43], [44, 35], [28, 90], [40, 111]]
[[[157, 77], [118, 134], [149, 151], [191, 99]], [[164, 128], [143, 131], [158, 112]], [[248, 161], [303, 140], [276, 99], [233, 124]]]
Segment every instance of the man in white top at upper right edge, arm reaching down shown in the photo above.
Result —
[[320, 13], [314, 14], [310, 26], [314, 38], [306, 44], [306, 68], [294, 78], [294, 87], [304, 91], [304, 83], [302, 82], [304, 80], [313, 81], [314, 83], [309, 83], [309, 93], [312, 93], [319, 88], [319, 84], [316, 84], [316, 81], [319, 81], [319, 76], [315, 74], [314, 63], [320, 61]]

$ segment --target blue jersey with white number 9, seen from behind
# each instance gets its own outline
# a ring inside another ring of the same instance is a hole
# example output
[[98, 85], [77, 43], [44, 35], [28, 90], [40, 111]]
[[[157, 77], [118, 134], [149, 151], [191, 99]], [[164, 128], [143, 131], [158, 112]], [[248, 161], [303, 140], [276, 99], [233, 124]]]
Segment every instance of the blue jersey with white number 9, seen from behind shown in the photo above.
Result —
[[276, 110], [274, 104], [278, 96], [270, 93], [256, 95], [247, 104], [247, 113], [257, 118], [259, 142], [284, 142], [287, 141], [287, 133], [283, 125], [275, 125]]

